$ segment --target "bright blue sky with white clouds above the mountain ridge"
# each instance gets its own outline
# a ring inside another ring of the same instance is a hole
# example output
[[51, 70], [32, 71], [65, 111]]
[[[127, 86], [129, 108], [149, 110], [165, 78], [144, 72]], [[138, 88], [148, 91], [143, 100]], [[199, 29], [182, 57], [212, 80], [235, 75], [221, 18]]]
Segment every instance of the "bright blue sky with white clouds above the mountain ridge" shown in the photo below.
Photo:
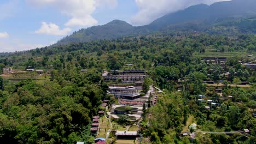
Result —
[[112, 20], [133, 26], [195, 4], [228, 0], [0, 0], [0, 52], [49, 46]]

